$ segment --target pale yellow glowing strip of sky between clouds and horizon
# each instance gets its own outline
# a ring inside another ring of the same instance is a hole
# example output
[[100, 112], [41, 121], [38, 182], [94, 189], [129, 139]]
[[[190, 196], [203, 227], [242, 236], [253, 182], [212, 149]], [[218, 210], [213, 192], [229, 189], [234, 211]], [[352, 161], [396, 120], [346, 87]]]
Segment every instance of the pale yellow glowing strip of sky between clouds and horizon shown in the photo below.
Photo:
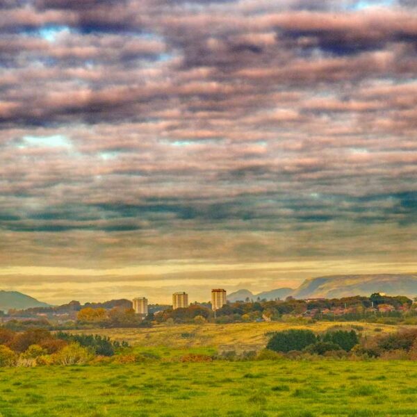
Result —
[[[199, 263], [193, 260], [144, 263], [124, 268], [82, 269], [14, 266], [0, 269], [2, 289], [16, 290], [51, 304], [70, 300], [99, 302], [145, 295], [152, 302], [170, 303], [173, 291], [188, 291], [190, 299], [208, 300], [210, 288], [254, 293], [297, 288], [304, 279], [325, 275], [409, 273], [417, 262], [281, 261], [266, 263]], [[168, 277], [168, 275], [171, 275]]]

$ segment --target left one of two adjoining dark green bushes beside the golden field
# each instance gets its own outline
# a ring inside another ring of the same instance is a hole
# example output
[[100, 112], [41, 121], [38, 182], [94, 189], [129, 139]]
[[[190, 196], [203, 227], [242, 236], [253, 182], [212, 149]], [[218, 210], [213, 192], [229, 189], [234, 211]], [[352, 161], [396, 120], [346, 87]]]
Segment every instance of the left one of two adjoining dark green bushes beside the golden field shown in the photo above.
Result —
[[289, 329], [275, 333], [266, 345], [268, 350], [275, 352], [290, 352], [291, 350], [303, 350], [304, 347], [316, 343], [317, 337], [311, 330]]

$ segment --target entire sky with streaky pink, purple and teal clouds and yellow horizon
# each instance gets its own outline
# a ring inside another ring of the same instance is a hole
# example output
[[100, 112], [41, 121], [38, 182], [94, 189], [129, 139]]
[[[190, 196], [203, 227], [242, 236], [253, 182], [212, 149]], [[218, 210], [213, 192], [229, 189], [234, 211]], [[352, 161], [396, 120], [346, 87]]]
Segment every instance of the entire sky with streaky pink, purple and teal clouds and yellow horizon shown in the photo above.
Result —
[[414, 0], [0, 0], [0, 287], [416, 272], [416, 74]]

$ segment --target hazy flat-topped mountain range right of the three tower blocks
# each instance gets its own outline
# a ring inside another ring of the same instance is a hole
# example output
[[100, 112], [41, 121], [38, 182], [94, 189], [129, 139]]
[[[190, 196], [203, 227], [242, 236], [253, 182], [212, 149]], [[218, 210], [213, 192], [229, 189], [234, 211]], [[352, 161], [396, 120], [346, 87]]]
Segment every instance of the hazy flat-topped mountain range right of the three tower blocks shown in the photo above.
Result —
[[227, 300], [245, 301], [247, 298], [256, 301], [284, 300], [288, 295], [294, 298], [341, 298], [352, 295], [370, 295], [386, 293], [387, 295], [417, 295], [417, 274], [370, 274], [370, 275], [331, 275], [306, 279], [298, 288], [278, 288], [253, 294], [248, 290], [230, 293]]

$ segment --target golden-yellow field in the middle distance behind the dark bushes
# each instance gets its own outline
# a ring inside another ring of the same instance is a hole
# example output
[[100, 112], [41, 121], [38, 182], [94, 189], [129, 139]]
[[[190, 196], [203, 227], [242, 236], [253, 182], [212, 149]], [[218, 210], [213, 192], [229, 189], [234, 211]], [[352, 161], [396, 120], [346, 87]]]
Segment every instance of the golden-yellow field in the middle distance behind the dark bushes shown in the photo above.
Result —
[[376, 334], [375, 329], [383, 332], [393, 332], [398, 326], [369, 324], [362, 322], [316, 322], [312, 325], [297, 325], [284, 322], [233, 323], [229, 325], [158, 325], [151, 329], [93, 329], [82, 330], [80, 333], [101, 334], [110, 336], [118, 341], [128, 341], [133, 346], [143, 347], [219, 347], [230, 345], [253, 346], [256, 349], [265, 347], [268, 338], [265, 332], [284, 329], [308, 328], [313, 332], [323, 332], [329, 327], [343, 325], [343, 327], [361, 326], [366, 334]]

